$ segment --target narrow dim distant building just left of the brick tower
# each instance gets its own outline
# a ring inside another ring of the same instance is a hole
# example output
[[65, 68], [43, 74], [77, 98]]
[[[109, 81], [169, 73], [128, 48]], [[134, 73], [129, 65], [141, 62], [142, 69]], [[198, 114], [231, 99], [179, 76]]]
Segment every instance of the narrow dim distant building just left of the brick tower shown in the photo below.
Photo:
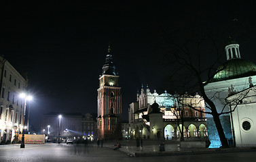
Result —
[[82, 118], [82, 131], [84, 140], [96, 140], [98, 138], [96, 119], [90, 113]]

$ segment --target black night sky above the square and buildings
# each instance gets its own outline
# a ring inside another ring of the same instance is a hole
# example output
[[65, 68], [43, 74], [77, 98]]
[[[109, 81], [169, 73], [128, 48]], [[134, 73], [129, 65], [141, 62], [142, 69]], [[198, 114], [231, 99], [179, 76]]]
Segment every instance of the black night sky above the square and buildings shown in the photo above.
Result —
[[[141, 84], [157, 89], [170, 66], [166, 37], [182, 42], [192, 28], [215, 36], [224, 47], [235, 30], [242, 59], [256, 63], [256, 14], [253, 1], [41, 1], [1, 4], [0, 54], [29, 77], [31, 124], [50, 111], [96, 113], [98, 77], [111, 42], [113, 63], [122, 87], [123, 119]], [[238, 20], [238, 21], [236, 21]], [[214, 54], [202, 51], [206, 65]], [[225, 61], [225, 53], [223, 53]], [[177, 75], [177, 82], [181, 76]]]

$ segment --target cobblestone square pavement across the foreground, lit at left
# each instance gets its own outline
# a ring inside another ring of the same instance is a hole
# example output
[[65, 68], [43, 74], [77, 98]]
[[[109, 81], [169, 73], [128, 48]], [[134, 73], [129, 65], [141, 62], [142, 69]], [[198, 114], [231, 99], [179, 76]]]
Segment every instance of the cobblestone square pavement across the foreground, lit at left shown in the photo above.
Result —
[[[150, 145], [148, 145], [150, 146]], [[215, 153], [203, 155], [167, 155], [156, 157], [132, 157], [123, 151], [114, 151], [112, 144], [84, 146], [83, 144], [20, 144], [0, 146], [0, 161], [256, 161], [255, 152]], [[157, 147], [157, 146], [156, 146]], [[144, 148], [144, 146], [143, 146]], [[122, 149], [122, 148], [121, 148]]]

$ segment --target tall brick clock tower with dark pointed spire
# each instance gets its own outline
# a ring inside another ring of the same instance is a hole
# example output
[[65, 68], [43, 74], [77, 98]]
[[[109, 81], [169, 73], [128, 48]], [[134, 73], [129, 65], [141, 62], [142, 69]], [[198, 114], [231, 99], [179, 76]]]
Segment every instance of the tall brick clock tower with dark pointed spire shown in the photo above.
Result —
[[122, 96], [109, 47], [98, 88], [98, 138], [122, 138]]

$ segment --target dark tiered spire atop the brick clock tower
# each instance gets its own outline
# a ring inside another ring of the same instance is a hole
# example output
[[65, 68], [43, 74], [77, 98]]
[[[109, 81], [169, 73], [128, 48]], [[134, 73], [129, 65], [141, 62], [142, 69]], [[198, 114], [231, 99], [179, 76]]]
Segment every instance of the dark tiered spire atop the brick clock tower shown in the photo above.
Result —
[[110, 51], [111, 51], [111, 48], [109, 45], [109, 49], [107, 49], [106, 62], [103, 65], [103, 74], [116, 76], [117, 74], [115, 72], [115, 65], [113, 64], [113, 58]]

